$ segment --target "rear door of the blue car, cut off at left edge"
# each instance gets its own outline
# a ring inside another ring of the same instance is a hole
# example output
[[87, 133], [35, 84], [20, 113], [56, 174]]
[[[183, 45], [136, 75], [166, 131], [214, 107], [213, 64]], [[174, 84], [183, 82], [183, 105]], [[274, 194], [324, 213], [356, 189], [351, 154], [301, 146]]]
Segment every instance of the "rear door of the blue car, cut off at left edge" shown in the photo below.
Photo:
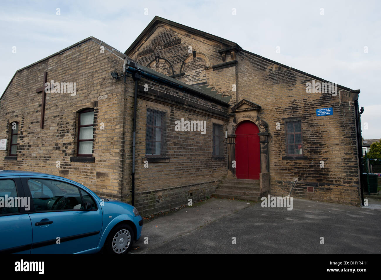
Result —
[[25, 200], [20, 177], [0, 177], [0, 253], [30, 253], [32, 225], [27, 213], [29, 207], [30, 200], [29, 204]]

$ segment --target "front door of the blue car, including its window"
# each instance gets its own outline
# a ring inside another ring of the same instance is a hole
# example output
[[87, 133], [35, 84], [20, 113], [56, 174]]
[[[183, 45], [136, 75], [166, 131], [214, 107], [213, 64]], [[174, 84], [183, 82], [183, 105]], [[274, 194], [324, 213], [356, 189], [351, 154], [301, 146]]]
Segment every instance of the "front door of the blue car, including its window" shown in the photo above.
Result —
[[91, 195], [77, 185], [52, 177], [21, 180], [33, 202], [29, 211], [32, 254], [95, 251], [102, 229], [102, 210]]

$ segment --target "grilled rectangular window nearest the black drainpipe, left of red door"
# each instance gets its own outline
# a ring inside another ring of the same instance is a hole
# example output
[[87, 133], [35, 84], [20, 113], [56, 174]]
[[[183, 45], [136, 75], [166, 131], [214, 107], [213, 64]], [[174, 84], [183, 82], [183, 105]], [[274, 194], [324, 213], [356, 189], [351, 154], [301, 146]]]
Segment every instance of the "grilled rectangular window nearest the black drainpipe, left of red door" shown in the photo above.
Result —
[[165, 112], [147, 109], [146, 156], [165, 156]]

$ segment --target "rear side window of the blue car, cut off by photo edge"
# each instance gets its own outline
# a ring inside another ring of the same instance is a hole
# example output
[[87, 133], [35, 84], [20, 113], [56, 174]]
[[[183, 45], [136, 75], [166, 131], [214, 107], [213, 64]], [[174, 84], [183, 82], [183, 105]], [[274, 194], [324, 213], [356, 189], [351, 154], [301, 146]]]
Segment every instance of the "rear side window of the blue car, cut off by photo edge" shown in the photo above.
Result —
[[10, 203], [9, 198], [11, 197], [18, 197], [16, 184], [11, 179], [0, 180], [0, 215], [19, 212], [17, 205]]

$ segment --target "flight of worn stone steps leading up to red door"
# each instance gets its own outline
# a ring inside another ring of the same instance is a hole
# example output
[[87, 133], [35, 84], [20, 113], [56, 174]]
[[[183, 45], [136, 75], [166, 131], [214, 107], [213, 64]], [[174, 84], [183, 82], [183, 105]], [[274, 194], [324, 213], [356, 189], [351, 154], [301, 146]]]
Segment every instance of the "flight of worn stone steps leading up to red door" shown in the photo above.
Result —
[[222, 180], [213, 196], [218, 198], [260, 201], [267, 192], [261, 192], [259, 180], [225, 179]]

